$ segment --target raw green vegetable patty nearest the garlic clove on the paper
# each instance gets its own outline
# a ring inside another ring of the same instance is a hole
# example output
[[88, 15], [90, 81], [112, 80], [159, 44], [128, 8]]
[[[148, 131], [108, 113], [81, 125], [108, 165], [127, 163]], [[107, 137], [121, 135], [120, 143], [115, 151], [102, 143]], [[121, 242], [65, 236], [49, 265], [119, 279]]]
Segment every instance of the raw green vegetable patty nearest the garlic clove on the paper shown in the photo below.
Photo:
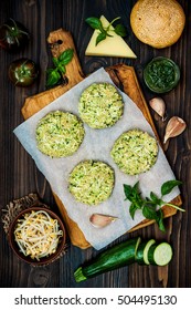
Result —
[[114, 188], [114, 170], [103, 162], [81, 162], [72, 170], [68, 189], [79, 203], [93, 206], [105, 202]]

